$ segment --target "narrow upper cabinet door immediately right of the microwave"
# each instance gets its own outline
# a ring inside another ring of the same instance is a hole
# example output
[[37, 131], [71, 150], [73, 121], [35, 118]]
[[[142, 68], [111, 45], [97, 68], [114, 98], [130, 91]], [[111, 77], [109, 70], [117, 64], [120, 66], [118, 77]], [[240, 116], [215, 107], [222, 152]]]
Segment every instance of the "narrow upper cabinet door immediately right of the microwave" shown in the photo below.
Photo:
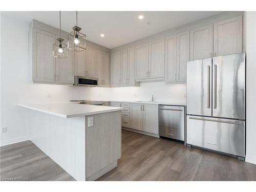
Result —
[[96, 50], [96, 77], [98, 78], [98, 86], [104, 85], [104, 53]]

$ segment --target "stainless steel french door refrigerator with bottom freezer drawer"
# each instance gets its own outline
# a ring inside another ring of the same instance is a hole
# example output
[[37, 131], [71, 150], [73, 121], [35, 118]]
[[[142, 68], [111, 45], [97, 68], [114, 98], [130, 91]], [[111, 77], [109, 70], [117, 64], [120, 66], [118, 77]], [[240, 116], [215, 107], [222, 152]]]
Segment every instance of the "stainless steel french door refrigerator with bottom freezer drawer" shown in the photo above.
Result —
[[187, 62], [186, 143], [245, 157], [245, 53]]

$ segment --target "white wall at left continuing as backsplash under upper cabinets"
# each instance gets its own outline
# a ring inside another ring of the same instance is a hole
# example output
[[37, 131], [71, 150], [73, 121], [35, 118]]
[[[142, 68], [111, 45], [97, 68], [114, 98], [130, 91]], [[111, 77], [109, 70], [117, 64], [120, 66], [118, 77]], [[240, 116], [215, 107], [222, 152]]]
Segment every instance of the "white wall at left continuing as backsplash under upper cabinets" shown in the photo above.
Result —
[[[8, 29], [8, 30], [6, 30]], [[84, 88], [28, 82], [29, 22], [1, 13], [1, 145], [29, 139], [28, 110], [19, 102], [67, 102], [72, 99], [150, 100], [184, 103], [185, 84], [142, 82], [131, 88]]]

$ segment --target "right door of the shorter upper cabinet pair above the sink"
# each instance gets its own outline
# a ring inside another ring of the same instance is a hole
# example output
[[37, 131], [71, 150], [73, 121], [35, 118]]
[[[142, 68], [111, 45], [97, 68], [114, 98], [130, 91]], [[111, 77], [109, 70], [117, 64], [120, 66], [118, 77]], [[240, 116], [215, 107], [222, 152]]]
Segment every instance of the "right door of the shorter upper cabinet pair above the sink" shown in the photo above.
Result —
[[148, 78], [164, 78], [164, 38], [149, 43]]

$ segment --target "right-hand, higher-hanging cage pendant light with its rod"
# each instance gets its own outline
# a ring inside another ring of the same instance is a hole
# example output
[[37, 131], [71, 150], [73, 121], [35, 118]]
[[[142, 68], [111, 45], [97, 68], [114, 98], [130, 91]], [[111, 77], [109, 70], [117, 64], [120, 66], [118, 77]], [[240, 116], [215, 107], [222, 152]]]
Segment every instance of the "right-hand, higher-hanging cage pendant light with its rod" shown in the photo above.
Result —
[[77, 11], [76, 11], [76, 26], [68, 34], [68, 48], [76, 52], [86, 50], [86, 35], [81, 33], [81, 28], [77, 27]]

